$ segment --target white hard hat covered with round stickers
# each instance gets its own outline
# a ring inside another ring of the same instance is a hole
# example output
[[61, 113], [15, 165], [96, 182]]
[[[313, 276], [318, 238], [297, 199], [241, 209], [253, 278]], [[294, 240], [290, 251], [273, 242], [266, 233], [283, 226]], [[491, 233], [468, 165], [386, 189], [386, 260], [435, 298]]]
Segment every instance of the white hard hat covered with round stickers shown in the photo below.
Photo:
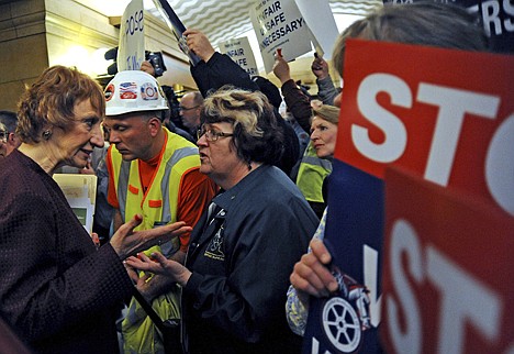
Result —
[[105, 115], [168, 109], [166, 97], [157, 80], [142, 70], [118, 73], [103, 93]]

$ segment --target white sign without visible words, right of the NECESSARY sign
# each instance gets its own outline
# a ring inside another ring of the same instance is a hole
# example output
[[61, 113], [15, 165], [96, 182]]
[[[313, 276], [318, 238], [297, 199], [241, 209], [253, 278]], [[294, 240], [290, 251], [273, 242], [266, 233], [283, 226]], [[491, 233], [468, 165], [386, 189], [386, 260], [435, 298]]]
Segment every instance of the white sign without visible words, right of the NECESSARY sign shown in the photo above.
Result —
[[332, 57], [339, 34], [328, 0], [295, 0], [298, 9], [311, 30], [314, 46], [326, 60]]

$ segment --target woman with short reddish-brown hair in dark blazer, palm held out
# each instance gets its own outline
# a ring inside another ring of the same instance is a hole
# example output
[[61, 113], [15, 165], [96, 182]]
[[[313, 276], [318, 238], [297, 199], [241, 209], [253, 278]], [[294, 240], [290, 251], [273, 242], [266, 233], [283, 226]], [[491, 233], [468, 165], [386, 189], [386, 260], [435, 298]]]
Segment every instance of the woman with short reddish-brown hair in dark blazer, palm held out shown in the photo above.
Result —
[[134, 288], [122, 261], [190, 228], [133, 231], [134, 215], [97, 250], [52, 175], [86, 167], [103, 146], [102, 89], [53, 66], [19, 107], [22, 144], [0, 161], [0, 314], [37, 353], [116, 353], [115, 320]]

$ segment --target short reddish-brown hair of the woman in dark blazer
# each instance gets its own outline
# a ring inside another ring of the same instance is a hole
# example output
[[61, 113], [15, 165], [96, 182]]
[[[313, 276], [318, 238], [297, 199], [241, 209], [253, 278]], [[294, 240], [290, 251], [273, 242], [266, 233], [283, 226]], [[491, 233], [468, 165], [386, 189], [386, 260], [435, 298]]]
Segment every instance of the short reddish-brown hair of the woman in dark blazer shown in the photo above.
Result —
[[24, 143], [37, 143], [48, 126], [66, 128], [77, 103], [90, 100], [100, 117], [105, 113], [102, 88], [77, 68], [52, 66], [26, 88], [18, 103], [16, 134]]

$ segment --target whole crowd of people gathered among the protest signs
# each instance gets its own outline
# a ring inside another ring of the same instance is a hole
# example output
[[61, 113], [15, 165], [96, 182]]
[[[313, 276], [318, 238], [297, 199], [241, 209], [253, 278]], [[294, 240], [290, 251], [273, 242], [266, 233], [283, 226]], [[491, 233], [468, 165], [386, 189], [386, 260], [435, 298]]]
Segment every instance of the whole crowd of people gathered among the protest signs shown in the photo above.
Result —
[[[195, 143], [166, 124], [147, 63], [105, 88], [52, 66], [16, 113], [0, 111], [0, 316], [31, 351], [300, 353], [310, 297], [337, 290], [323, 244], [342, 95], [328, 63], [313, 59], [313, 98], [278, 53], [280, 88], [201, 31], [185, 35], [201, 58], [199, 90], [180, 100]], [[342, 77], [347, 38], [487, 48], [470, 14], [440, 3], [351, 24], [332, 56]], [[310, 135], [304, 150], [282, 98]], [[94, 151], [104, 153], [92, 167]], [[63, 166], [102, 177], [100, 247], [52, 178]], [[165, 332], [170, 320], [179, 329]]]

